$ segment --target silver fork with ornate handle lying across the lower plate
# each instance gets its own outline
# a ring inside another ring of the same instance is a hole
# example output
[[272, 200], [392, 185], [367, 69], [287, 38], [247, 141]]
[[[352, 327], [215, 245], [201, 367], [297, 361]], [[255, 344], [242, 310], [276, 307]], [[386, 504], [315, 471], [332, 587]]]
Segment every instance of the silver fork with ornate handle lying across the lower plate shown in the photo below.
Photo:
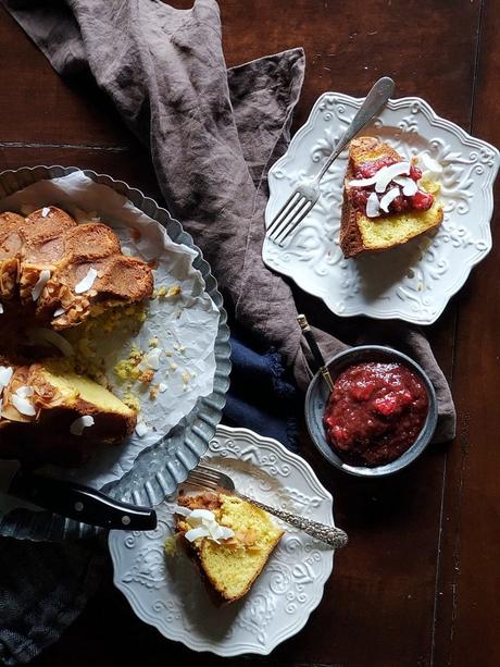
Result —
[[341, 546], [346, 546], [348, 538], [343, 530], [340, 528], [335, 528], [334, 526], [326, 526], [325, 523], [320, 523], [318, 521], [312, 521], [311, 519], [305, 519], [304, 517], [299, 517], [289, 511], [284, 511], [283, 509], [276, 509], [275, 507], [270, 507], [260, 501], [255, 501], [255, 498], [250, 498], [249, 496], [240, 493], [236, 490], [235, 483], [230, 479], [229, 475], [221, 472], [220, 470], [215, 470], [214, 468], [209, 468], [208, 466], [199, 465], [193, 470], [189, 472], [189, 475], [185, 482], [190, 486], [195, 486], [196, 489], [204, 489], [211, 491], [221, 491], [225, 493], [229, 493], [232, 495], [238, 496], [242, 501], [247, 503], [251, 503], [255, 507], [260, 507], [265, 511], [268, 511], [271, 515], [274, 515], [282, 521], [298, 528], [303, 531], [308, 535], [312, 538], [316, 538], [316, 540], [321, 540], [325, 542], [329, 546], [334, 548], [339, 548]]

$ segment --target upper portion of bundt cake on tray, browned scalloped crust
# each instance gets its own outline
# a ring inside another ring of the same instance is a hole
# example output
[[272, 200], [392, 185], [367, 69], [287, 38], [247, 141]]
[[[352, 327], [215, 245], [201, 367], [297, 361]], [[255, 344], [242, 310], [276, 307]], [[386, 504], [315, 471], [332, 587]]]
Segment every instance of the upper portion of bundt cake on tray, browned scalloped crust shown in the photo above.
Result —
[[45, 207], [22, 218], [0, 213], [0, 300], [17, 294], [54, 330], [91, 314], [151, 296], [150, 267], [122, 254], [105, 224], [77, 224], [65, 211]]

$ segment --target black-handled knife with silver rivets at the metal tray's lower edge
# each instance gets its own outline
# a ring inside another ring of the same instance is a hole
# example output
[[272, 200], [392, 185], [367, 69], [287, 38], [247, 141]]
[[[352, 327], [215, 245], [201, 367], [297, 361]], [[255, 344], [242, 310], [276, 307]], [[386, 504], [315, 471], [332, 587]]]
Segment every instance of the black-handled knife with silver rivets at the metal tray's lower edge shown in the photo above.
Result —
[[0, 492], [91, 526], [114, 530], [157, 528], [157, 512], [151, 507], [122, 503], [90, 486], [46, 477], [16, 460], [0, 461]]

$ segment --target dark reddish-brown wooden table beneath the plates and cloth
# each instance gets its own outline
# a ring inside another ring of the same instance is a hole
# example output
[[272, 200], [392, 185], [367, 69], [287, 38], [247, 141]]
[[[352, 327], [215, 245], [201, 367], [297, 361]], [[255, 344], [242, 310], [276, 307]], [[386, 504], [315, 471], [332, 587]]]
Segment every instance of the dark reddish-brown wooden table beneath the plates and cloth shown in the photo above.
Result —
[[[146, 1], [146, 0], [142, 0]], [[178, 7], [188, 7], [177, 0]], [[296, 126], [325, 90], [361, 96], [382, 74], [398, 96], [500, 145], [500, 3], [495, 0], [222, 0], [228, 65], [302, 45]], [[148, 157], [91, 85], [68, 87], [0, 11], [0, 169], [64, 164], [158, 196]], [[498, 188], [497, 188], [498, 193]], [[493, 222], [495, 226], [495, 222]], [[498, 247], [429, 335], [453, 387], [458, 437], [375, 485], [307, 458], [350, 534], [307, 627], [270, 657], [233, 664], [500, 665], [500, 280]], [[37, 667], [218, 665], [141, 623], [105, 585]]]

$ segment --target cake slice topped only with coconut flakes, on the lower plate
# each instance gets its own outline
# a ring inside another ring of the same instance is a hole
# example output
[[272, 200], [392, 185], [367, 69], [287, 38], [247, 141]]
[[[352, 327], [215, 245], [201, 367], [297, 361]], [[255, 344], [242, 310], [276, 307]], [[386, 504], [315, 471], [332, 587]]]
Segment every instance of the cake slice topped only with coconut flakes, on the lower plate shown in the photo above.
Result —
[[178, 505], [176, 531], [214, 603], [241, 598], [261, 573], [283, 530], [267, 512], [236, 496], [180, 496]]

